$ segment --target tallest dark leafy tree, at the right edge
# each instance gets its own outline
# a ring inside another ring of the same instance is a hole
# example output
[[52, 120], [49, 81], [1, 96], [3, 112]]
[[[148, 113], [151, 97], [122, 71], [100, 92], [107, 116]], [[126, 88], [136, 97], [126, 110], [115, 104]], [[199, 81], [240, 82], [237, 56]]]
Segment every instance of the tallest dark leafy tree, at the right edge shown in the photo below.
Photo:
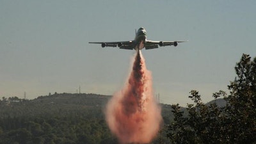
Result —
[[243, 54], [235, 70], [237, 77], [228, 86], [227, 132], [232, 143], [256, 143], [256, 58]]

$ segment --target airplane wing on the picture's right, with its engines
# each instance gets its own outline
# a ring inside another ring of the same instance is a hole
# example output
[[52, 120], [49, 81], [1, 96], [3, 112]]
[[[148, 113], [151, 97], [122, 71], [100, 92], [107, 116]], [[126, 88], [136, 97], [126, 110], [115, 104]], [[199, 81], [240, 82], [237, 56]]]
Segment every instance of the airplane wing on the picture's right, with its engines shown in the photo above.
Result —
[[168, 45], [174, 45], [175, 47], [180, 42], [187, 42], [187, 41], [154, 41], [154, 40], [146, 40], [145, 43], [145, 49], [156, 49], [158, 48], [158, 45], [160, 47], [168, 46]]

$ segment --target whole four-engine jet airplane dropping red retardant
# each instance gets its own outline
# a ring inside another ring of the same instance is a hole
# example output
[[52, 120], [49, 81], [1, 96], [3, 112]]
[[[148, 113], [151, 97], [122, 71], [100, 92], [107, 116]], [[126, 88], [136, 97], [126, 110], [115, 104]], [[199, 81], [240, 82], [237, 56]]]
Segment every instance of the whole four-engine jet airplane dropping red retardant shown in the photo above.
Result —
[[89, 42], [89, 44], [101, 44], [101, 47], [116, 47], [118, 46], [120, 49], [134, 49], [141, 50], [145, 47], [145, 49], [156, 49], [158, 45], [160, 47], [167, 45], [174, 45], [175, 47], [180, 42], [187, 41], [153, 41], [147, 40], [147, 31], [145, 28], [141, 27], [136, 31], [135, 29], [135, 38], [130, 41], [123, 42]]

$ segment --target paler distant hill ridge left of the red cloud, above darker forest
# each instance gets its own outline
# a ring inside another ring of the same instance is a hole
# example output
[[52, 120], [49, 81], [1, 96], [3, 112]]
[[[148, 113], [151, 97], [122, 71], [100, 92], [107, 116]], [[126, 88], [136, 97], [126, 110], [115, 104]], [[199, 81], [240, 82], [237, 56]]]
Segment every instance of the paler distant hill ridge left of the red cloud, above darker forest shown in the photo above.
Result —
[[[0, 117], [67, 115], [68, 113], [93, 113], [101, 111], [110, 96], [96, 94], [55, 93], [33, 100], [15, 99], [1, 101]], [[99, 116], [99, 115], [98, 115]]]

